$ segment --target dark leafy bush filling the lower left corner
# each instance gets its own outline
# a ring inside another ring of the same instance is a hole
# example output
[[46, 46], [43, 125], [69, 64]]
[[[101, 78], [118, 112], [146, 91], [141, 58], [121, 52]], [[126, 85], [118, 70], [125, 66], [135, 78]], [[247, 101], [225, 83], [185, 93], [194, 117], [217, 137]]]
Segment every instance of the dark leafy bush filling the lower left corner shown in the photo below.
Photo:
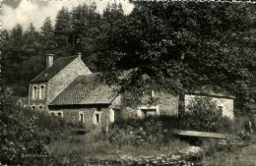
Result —
[[36, 120], [20, 122], [21, 114], [1, 99], [1, 163], [48, 165], [49, 137], [36, 128]]

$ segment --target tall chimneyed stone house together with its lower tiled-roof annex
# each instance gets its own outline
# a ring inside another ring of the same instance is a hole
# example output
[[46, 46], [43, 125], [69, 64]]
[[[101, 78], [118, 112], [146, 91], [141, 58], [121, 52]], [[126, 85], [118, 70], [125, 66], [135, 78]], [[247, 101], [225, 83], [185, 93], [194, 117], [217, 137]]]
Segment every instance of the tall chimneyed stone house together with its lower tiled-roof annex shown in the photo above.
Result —
[[46, 56], [46, 69], [30, 83], [32, 110], [78, 120], [87, 125], [113, 122], [120, 96], [100, 82], [81, 60], [81, 54], [59, 58]]

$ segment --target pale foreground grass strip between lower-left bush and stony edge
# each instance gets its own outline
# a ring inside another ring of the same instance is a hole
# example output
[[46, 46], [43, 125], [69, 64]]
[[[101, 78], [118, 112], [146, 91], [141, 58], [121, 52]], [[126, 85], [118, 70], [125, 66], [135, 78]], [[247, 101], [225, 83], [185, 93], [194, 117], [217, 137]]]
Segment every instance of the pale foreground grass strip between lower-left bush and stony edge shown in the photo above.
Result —
[[[57, 164], [80, 164], [90, 160], [119, 160], [120, 155], [152, 156], [177, 153], [180, 148], [189, 146], [189, 143], [177, 138], [170, 138], [167, 144], [119, 145], [109, 143], [101, 134], [88, 133], [77, 136], [73, 132], [64, 132], [64, 138], [57, 138], [51, 142], [52, 155]], [[72, 160], [70, 159], [72, 158]]]

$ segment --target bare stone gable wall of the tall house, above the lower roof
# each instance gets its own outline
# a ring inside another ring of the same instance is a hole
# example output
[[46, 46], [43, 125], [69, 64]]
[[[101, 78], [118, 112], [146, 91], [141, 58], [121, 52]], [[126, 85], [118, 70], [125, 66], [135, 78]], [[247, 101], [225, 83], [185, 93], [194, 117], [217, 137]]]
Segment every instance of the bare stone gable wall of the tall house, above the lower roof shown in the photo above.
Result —
[[80, 58], [76, 58], [49, 81], [47, 90], [47, 104], [49, 104], [79, 75], [88, 74], [92, 74], [92, 72], [86, 67]]

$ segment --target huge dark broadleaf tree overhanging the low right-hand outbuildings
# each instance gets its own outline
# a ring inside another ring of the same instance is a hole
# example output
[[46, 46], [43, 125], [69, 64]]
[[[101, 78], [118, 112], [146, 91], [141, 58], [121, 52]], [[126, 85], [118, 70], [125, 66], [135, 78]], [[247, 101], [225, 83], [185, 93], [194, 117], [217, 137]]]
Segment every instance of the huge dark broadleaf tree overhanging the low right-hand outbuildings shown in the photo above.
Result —
[[109, 11], [98, 61], [101, 71], [111, 73], [105, 76], [117, 76], [112, 77], [117, 81], [120, 71], [133, 70], [129, 78], [122, 77], [126, 87], [145, 86], [146, 75], [152, 80], [148, 86], [186, 92], [213, 85], [244, 101], [255, 98], [250, 72], [256, 60], [255, 13], [250, 5], [136, 2], [133, 12], [117, 21], [109, 19]]

